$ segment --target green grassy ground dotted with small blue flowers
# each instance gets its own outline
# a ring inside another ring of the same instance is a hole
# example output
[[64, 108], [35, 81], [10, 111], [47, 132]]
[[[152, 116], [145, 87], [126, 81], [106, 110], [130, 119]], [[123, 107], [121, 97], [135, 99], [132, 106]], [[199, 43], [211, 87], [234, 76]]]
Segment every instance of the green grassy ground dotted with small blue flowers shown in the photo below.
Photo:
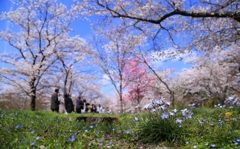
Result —
[[180, 113], [110, 115], [119, 122], [105, 123], [76, 121], [75, 113], [0, 110], [0, 148], [240, 148], [239, 107]]

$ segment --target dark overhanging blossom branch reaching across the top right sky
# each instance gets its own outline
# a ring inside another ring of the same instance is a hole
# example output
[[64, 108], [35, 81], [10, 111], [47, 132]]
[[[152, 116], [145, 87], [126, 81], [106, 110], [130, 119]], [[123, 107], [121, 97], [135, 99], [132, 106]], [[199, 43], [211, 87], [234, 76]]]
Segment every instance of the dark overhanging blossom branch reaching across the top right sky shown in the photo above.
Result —
[[[82, 3], [86, 7], [81, 7]], [[79, 10], [88, 15], [104, 16], [108, 24], [127, 24], [129, 30], [148, 39], [152, 50], [164, 51], [172, 45], [183, 49], [181, 51], [211, 50], [216, 45], [239, 44], [238, 0], [89, 0], [82, 3], [79, 2]]]

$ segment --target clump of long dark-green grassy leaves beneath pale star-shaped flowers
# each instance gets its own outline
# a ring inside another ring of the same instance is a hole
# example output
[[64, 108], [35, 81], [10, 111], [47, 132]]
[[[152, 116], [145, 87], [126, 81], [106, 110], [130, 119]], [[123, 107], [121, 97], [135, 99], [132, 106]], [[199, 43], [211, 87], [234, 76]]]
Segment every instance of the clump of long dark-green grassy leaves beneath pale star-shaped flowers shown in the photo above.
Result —
[[157, 113], [140, 118], [137, 133], [143, 143], [168, 142], [180, 145], [184, 142], [186, 130], [173, 117], [162, 119]]

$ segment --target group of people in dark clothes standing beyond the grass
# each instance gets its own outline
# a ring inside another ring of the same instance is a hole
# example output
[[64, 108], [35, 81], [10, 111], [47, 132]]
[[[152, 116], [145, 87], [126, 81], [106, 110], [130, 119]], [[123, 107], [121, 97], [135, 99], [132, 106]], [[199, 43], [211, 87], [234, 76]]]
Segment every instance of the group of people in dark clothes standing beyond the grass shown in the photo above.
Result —
[[[74, 112], [74, 104], [69, 94], [64, 95], [64, 103], [60, 102], [58, 99], [59, 89], [55, 89], [55, 92], [51, 97], [51, 110], [53, 112], [59, 113], [59, 105], [64, 104], [65, 112]], [[108, 113], [112, 114], [110, 107], [106, 109], [101, 106], [101, 104], [95, 105], [88, 103], [85, 99], [79, 96], [76, 100], [76, 113]]]

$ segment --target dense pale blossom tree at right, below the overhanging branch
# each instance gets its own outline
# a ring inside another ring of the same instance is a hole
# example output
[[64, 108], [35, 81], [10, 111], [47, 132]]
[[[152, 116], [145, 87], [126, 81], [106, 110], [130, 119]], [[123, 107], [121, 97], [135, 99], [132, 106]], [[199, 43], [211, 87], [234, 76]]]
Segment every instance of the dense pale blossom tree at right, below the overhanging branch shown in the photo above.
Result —
[[180, 73], [178, 79], [187, 92], [203, 92], [223, 104], [228, 96], [239, 92], [239, 47], [215, 47], [213, 51], [189, 59], [194, 66]]

